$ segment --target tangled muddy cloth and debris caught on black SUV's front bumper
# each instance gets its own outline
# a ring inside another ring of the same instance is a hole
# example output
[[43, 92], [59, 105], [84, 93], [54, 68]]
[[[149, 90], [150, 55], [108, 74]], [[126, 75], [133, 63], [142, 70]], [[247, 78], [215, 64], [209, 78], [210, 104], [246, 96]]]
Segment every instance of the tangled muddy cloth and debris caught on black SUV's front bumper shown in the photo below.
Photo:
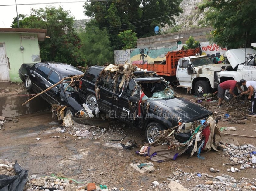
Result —
[[[182, 124], [174, 128], [179, 130], [181, 127]], [[141, 147], [141, 150], [136, 151], [136, 154], [147, 156], [151, 161], [164, 162], [175, 160], [183, 153], [187, 153], [190, 157], [194, 153], [197, 153], [198, 158], [202, 158], [200, 156], [201, 150], [209, 152], [211, 148], [213, 148], [218, 151], [213, 145], [213, 140], [215, 134], [220, 135], [220, 130], [212, 117], [209, 117], [206, 120], [193, 122], [192, 130], [191, 137], [185, 143], [180, 143], [175, 139], [171, 133], [173, 129], [161, 131], [160, 136], [156, 141]]]

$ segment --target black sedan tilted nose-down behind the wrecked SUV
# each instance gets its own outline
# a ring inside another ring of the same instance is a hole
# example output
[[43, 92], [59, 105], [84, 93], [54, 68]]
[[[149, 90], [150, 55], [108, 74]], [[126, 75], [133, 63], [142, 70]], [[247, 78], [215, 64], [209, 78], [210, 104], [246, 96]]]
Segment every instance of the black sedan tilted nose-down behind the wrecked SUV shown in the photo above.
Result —
[[[81, 74], [84, 73], [78, 68], [58, 62], [22, 64], [19, 68], [19, 77], [24, 82], [26, 90], [33, 90], [35, 93], [46, 90], [65, 77]], [[65, 81], [71, 80], [66, 79], [64, 82]], [[81, 103], [79, 103], [78, 92], [74, 87], [67, 87], [68, 84], [69, 83], [58, 84], [40, 96], [50, 104], [67, 106], [64, 115], [70, 113], [72, 116], [75, 116], [78, 111], [84, 108], [81, 106]]]

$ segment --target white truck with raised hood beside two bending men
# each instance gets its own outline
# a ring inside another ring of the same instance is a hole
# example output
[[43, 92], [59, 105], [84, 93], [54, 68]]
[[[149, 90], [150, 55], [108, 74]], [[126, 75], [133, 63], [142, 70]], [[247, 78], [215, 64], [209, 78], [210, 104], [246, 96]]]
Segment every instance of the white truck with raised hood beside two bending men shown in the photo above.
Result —
[[[256, 47], [256, 43], [252, 43], [252, 46]], [[252, 48], [238, 48], [227, 50], [226, 61], [230, 63], [230, 66], [224, 68], [223, 71], [218, 73], [219, 82], [226, 80], [240, 81], [245, 79], [247, 81], [256, 81], [256, 51]], [[242, 87], [243, 88], [243, 87]], [[224, 99], [229, 101], [232, 96], [225, 92]]]

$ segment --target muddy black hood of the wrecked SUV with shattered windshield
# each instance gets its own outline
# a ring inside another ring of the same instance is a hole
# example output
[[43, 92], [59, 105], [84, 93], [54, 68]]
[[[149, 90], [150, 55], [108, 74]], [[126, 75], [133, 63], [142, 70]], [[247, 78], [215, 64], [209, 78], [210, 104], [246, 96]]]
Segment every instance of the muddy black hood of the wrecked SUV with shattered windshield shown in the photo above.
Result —
[[172, 115], [180, 117], [183, 122], [192, 122], [212, 115], [211, 111], [184, 98], [172, 98], [165, 100], [148, 99], [147, 101], [150, 103], [151, 109], [154, 110], [157, 108], [158, 110], [166, 110]]

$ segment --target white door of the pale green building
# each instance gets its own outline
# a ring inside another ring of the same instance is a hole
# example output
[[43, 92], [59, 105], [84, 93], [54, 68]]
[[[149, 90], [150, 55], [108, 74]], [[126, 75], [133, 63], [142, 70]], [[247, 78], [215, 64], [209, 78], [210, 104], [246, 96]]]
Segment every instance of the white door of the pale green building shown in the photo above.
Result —
[[10, 81], [5, 43], [0, 43], [0, 81]]

